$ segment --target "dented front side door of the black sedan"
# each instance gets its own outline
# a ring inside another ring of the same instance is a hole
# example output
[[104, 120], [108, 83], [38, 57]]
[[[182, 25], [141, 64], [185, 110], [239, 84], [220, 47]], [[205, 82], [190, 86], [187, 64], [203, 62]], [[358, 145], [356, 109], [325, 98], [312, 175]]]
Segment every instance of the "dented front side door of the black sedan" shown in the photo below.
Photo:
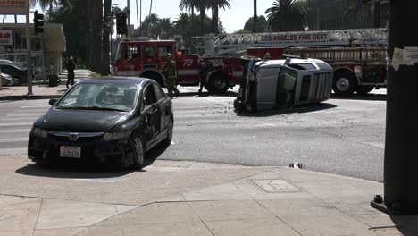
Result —
[[144, 115], [146, 120], [146, 145], [152, 146], [161, 131], [161, 108], [155, 97], [153, 84], [146, 86], [143, 92]]

